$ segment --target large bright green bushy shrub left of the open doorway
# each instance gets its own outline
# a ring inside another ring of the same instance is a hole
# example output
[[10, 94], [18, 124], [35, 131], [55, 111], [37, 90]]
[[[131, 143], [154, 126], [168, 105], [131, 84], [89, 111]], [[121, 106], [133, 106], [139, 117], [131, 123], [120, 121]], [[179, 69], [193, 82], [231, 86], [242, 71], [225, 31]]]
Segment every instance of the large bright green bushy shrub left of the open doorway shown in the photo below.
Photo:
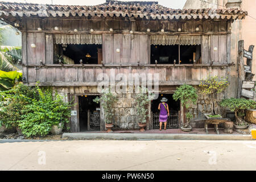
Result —
[[36, 86], [39, 100], [33, 98], [31, 104], [24, 106], [19, 128], [26, 137], [45, 136], [49, 134], [53, 125], [64, 127], [68, 123], [70, 105], [63, 101], [63, 98], [51, 88], [40, 89]]

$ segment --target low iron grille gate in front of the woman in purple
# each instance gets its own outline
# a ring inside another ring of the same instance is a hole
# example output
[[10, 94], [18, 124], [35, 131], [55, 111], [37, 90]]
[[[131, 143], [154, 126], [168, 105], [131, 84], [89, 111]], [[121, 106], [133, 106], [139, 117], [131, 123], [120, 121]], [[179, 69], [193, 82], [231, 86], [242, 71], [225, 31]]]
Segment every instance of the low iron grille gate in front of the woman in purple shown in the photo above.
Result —
[[[151, 113], [153, 129], [159, 129], [159, 113]], [[180, 127], [180, 111], [174, 112], [168, 116], [167, 129], [177, 129]]]

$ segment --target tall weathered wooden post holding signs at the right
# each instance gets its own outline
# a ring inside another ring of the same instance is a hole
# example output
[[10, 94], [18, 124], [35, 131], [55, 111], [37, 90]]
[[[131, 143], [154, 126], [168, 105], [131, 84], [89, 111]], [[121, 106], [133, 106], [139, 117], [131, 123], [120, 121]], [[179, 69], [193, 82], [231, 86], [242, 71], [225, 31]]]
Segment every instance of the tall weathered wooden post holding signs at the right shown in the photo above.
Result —
[[243, 67], [243, 40], [238, 41], [237, 72], [237, 98], [241, 98], [242, 81], [245, 80], [245, 70]]

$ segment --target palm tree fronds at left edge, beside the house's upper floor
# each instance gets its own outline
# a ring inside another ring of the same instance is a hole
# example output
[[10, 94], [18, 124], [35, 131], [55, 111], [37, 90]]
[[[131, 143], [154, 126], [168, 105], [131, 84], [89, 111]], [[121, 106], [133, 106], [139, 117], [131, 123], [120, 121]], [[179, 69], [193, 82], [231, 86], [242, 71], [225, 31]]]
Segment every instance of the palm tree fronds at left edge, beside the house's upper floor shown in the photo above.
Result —
[[15, 64], [22, 59], [22, 49], [20, 46], [4, 46], [2, 45], [5, 37], [3, 31], [11, 28], [10, 25], [0, 27], [0, 70], [15, 71], [19, 70]]

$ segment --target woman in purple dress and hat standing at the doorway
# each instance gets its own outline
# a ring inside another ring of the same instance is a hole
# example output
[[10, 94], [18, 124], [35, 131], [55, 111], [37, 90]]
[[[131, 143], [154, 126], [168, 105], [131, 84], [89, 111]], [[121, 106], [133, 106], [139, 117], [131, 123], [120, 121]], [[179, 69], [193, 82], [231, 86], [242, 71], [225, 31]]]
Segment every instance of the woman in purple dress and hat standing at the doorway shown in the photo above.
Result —
[[159, 130], [161, 131], [163, 122], [164, 122], [164, 130], [166, 130], [167, 119], [170, 114], [169, 114], [168, 104], [166, 103], [168, 99], [163, 97], [162, 100], [160, 101], [161, 103], [159, 104], [158, 109], [160, 110], [160, 115], [159, 115], [160, 129]]

